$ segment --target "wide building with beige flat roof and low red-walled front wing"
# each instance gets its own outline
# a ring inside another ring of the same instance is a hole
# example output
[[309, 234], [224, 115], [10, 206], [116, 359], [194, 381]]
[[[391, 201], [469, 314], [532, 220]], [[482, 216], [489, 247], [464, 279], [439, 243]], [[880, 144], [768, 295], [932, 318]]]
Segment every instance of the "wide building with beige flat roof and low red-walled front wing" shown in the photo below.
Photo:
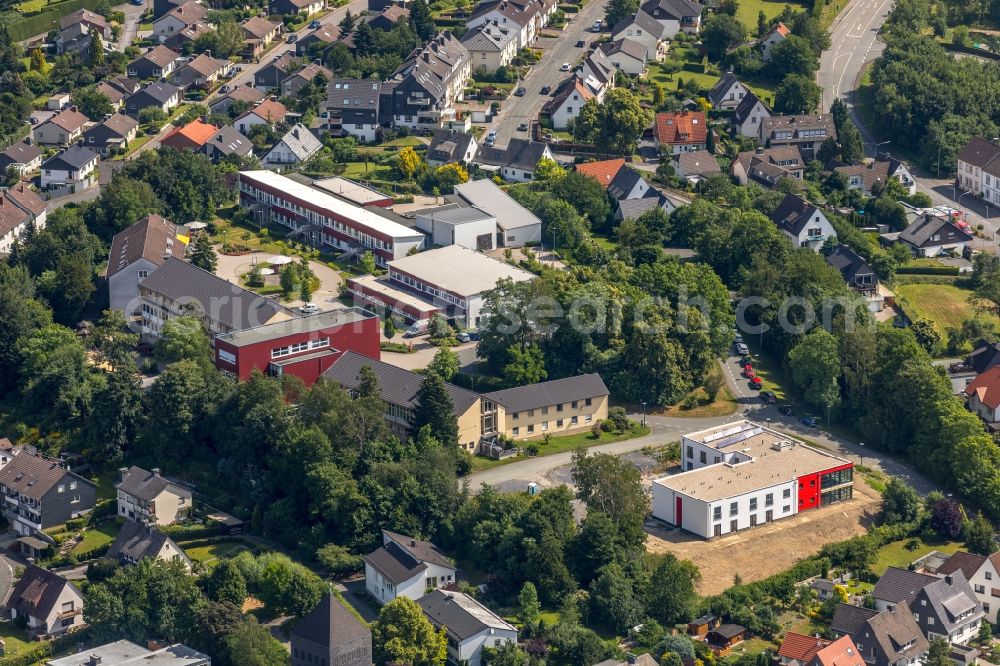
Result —
[[[393, 292], [417, 297], [431, 308], [465, 328], [478, 328], [483, 321], [483, 292], [502, 279], [527, 282], [534, 275], [459, 245], [427, 250], [389, 262], [389, 278], [375, 283], [351, 278], [350, 291], [376, 306], [416, 318], [412, 303], [401, 303]], [[423, 314], [423, 313], [421, 313]], [[431, 312], [434, 314], [434, 312]]]

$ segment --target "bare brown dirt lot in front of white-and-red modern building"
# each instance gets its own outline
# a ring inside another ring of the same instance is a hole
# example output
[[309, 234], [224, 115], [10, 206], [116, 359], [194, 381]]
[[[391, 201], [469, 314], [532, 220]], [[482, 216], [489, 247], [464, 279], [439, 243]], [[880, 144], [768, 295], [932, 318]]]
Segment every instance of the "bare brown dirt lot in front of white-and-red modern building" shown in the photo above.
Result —
[[671, 552], [701, 570], [702, 594], [718, 594], [739, 574], [744, 582], [767, 578], [835, 541], [864, 534], [878, 513], [881, 496], [854, 477], [848, 502], [800, 513], [792, 518], [705, 541], [690, 532], [646, 522], [646, 550]]

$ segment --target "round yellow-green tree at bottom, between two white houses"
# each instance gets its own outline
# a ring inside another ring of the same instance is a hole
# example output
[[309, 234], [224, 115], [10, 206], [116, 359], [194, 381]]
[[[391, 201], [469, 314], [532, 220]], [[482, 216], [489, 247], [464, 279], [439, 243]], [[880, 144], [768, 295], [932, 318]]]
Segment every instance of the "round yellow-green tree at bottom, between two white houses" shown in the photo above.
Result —
[[417, 602], [407, 597], [396, 597], [383, 606], [371, 630], [377, 664], [444, 666], [448, 658], [444, 629], [435, 631]]

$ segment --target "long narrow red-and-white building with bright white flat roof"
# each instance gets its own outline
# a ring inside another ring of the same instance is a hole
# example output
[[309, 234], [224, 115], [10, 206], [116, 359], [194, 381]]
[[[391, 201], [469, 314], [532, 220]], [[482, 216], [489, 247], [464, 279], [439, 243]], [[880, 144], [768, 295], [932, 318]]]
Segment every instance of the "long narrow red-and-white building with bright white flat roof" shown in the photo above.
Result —
[[260, 222], [307, 227], [313, 240], [354, 253], [370, 250], [385, 266], [421, 248], [424, 235], [367, 207], [271, 171], [241, 171], [240, 203]]

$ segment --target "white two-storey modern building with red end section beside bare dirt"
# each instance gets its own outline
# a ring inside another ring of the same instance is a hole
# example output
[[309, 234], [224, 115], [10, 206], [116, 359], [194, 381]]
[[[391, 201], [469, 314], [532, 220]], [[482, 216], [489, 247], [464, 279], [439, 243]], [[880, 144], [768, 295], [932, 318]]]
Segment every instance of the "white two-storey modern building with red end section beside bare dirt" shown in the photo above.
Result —
[[750, 421], [684, 435], [681, 459], [653, 482], [653, 517], [706, 539], [853, 496], [850, 461]]

